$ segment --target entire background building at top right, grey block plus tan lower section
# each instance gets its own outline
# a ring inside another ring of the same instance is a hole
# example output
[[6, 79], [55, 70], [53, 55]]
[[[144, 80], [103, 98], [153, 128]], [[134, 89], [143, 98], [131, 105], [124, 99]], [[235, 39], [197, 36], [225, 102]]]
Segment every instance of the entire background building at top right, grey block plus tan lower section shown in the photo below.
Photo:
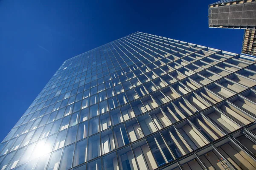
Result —
[[209, 5], [210, 28], [241, 28], [244, 31], [242, 54], [256, 56], [256, 1], [221, 0]]

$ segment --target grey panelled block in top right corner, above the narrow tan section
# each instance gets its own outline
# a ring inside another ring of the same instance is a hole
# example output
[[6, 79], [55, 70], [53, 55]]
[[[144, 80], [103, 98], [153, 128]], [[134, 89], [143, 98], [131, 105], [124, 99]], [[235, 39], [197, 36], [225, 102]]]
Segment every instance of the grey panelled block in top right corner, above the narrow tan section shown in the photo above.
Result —
[[256, 28], [255, 0], [221, 0], [209, 5], [209, 27]]

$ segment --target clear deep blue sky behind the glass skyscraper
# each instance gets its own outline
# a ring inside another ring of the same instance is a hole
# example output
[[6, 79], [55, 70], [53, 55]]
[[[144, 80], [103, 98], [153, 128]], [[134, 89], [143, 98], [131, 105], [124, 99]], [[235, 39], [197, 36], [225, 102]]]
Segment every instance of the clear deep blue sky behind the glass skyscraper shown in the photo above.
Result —
[[0, 141], [64, 60], [136, 31], [240, 53], [243, 30], [208, 28], [217, 0], [0, 0]]

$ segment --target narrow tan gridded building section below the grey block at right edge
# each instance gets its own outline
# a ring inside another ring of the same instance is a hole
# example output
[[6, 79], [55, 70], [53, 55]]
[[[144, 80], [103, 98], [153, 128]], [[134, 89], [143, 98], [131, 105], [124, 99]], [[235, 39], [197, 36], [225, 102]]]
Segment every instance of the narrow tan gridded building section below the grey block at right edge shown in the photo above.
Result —
[[256, 57], [256, 34], [255, 29], [244, 30], [244, 40], [242, 54], [248, 54]]

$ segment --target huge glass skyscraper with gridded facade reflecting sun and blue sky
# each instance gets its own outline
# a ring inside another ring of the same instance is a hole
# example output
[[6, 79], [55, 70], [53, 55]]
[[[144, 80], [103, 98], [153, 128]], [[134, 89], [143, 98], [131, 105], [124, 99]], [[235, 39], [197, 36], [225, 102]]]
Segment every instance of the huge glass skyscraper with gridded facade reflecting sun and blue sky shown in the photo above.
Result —
[[68, 59], [0, 170], [256, 169], [254, 59], [141, 32]]

